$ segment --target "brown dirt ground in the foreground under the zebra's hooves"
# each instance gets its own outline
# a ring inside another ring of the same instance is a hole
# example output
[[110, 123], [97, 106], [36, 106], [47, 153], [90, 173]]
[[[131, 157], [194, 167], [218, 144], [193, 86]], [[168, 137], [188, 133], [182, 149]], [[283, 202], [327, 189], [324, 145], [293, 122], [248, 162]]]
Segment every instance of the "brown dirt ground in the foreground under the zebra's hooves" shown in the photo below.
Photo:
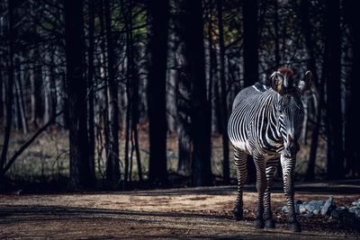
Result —
[[[338, 206], [360, 198], [357, 183], [297, 184], [295, 200], [326, 200]], [[347, 193], [345, 193], [347, 192]], [[301, 217], [302, 233], [286, 229], [284, 194], [273, 194], [275, 229], [255, 229], [257, 193], [244, 195], [245, 220], [235, 221], [231, 209], [236, 186], [153, 191], [86, 192], [76, 194], [0, 195], [0, 238], [238, 238], [359, 239], [323, 217]]]

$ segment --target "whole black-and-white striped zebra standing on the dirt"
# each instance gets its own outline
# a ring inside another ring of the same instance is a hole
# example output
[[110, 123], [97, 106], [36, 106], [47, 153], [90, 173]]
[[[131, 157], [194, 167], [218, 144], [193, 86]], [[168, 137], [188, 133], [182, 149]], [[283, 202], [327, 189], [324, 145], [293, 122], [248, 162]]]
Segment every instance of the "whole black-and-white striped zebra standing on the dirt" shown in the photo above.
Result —
[[243, 217], [242, 195], [247, 180], [247, 155], [251, 155], [257, 171], [255, 227], [275, 227], [270, 193], [280, 159], [290, 229], [302, 231], [294, 211], [293, 172], [304, 115], [301, 96], [310, 90], [311, 79], [311, 72], [307, 71], [301, 80], [295, 81], [291, 68], [280, 67], [269, 78], [271, 87], [257, 83], [244, 88], [235, 97], [228, 134], [237, 167], [238, 195], [233, 210], [237, 220]]

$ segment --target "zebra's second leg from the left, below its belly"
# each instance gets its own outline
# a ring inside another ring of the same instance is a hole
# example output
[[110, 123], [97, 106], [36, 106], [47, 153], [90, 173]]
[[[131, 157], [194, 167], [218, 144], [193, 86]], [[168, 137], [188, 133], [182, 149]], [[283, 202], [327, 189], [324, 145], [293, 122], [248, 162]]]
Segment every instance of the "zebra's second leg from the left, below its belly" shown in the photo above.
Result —
[[266, 191], [266, 168], [264, 157], [254, 156], [255, 165], [257, 168], [257, 218], [255, 219], [255, 227], [264, 228], [264, 193]]

